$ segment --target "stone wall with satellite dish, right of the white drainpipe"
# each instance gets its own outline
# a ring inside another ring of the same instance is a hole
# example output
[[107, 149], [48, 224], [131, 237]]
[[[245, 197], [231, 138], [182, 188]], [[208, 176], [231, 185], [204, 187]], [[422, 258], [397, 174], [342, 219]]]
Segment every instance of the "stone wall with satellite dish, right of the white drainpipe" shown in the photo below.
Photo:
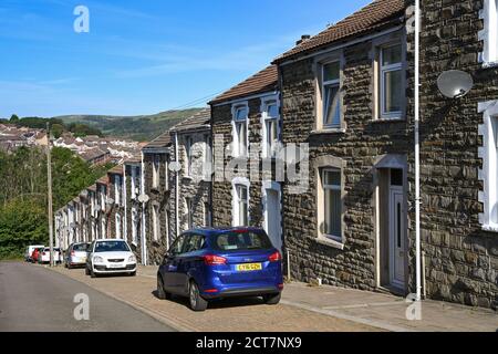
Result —
[[[480, 102], [498, 100], [498, 69], [479, 63], [483, 3], [422, 1], [422, 249], [428, 296], [496, 309], [498, 235], [479, 223], [483, 114], [477, 110]], [[413, 44], [413, 35], [408, 42]], [[452, 69], [466, 71], [475, 81], [460, 100], [445, 98], [437, 88], [438, 75]]]

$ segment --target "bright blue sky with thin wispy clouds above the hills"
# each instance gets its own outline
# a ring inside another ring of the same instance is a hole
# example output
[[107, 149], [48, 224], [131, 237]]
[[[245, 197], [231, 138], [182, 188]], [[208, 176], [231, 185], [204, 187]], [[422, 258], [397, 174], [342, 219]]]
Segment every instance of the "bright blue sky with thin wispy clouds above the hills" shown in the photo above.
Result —
[[[0, 117], [203, 106], [369, 2], [2, 0]], [[79, 4], [89, 33], [73, 30]]]

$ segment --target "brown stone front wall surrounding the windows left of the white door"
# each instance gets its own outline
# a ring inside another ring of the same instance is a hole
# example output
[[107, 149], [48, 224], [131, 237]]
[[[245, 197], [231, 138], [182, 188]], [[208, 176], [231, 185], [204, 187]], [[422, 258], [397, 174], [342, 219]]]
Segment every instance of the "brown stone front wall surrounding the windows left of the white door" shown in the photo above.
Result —
[[[397, 33], [400, 34], [400, 33]], [[308, 143], [310, 186], [301, 194], [283, 188], [284, 244], [291, 277], [310, 282], [362, 290], [375, 281], [375, 163], [385, 154], [406, 155], [411, 149], [405, 119], [374, 119], [374, 60], [372, 41], [343, 50], [343, 115], [345, 131], [317, 132], [314, 59], [280, 66], [282, 142]], [[314, 166], [333, 157], [343, 174], [342, 244], [319, 238]]]

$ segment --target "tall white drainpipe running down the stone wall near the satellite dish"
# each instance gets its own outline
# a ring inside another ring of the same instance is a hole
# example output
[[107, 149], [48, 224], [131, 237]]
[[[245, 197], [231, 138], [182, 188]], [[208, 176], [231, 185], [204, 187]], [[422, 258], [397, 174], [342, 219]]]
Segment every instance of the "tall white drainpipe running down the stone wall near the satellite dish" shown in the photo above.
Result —
[[421, 35], [421, 0], [415, 0], [415, 275], [416, 300], [421, 301], [421, 150], [419, 150], [419, 35]]

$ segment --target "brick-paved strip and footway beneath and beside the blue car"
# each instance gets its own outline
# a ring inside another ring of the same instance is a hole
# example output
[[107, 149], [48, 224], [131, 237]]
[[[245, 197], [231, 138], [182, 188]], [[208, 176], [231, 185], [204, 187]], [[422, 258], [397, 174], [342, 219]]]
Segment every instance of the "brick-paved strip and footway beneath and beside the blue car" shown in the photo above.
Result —
[[[137, 277], [91, 279], [84, 270], [56, 272], [81, 281], [178, 331], [454, 331], [496, 332], [498, 314], [492, 310], [425, 300], [416, 305], [405, 299], [335, 287], [287, 283], [278, 305], [260, 299], [229, 299], [209, 304], [206, 312], [188, 309], [186, 299], [163, 301], [155, 296], [157, 267], [139, 267]], [[409, 309], [408, 309], [409, 306]], [[408, 320], [408, 314], [415, 320]], [[418, 320], [416, 320], [418, 319]]]

